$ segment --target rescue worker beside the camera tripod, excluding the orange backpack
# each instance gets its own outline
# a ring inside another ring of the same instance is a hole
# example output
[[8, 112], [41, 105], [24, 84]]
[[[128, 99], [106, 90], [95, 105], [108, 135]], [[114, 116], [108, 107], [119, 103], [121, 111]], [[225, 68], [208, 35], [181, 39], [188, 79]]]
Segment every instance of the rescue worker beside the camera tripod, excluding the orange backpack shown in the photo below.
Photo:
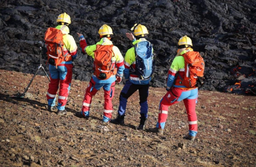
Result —
[[[67, 114], [65, 105], [68, 99], [68, 93], [70, 91], [71, 80], [72, 80], [72, 60], [77, 57], [77, 44], [74, 38], [69, 35], [70, 30], [68, 25], [71, 23], [70, 16], [66, 13], [60, 14], [57, 18], [58, 26], [56, 29], [62, 31], [63, 34], [63, 54], [68, 58], [66, 61], [61, 62], [56, 69], [56, 66], [49, 64], [50, 71], [50, 83], [47, 91], [48, 110], [56, 112], [57, 115]], [[60, 91], [58, 93], [58, 106], [56, 108], [56, 94], [60, 84]]]

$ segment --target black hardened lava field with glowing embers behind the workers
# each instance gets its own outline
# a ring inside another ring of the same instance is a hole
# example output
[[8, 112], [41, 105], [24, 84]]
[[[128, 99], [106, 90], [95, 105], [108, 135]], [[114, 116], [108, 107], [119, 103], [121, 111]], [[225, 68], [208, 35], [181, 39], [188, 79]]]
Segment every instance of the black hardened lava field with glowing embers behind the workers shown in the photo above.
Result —
[[[134, 23], [149, 30], [156, 70], [150, 83], [166, 86], [166, 77], [180, 37], [187, 35], [193, 49], [205, 59], [203, 90], [256, 94], [255, 0], [8, 0], [0, 2], [0, 69], [34, 73], [39, 65], [35, 41], [57, 25], [56, 18], [71, 16], [70, 34], [78, 45], [73, 78], [89, 81], [92, 58], [80, 51], [77, 32], [89, 45], [99, 40], [103, 24], [112, 27], [113, 43], [122, 55], [132, 47], [125, 33]], [[46, 56], [43, 64], [48, 71]], [[40, 71], [43, 75], [43, 71]], [[22, 78], [21, 78], [22, 80]]]

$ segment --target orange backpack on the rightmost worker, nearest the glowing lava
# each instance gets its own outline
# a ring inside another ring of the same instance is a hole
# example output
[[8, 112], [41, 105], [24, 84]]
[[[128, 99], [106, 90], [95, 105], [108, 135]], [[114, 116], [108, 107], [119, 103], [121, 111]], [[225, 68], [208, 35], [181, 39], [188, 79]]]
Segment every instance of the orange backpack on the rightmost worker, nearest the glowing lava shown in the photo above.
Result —
[[182, 84], [188, 88], [195, 88], [198, 86], [198, 83], [203, 85], [205, 80], [205, 62], [199, 52], [190, 51], [182, 56], [185, 60], [185, 75], [184, 79], [181, 79]]

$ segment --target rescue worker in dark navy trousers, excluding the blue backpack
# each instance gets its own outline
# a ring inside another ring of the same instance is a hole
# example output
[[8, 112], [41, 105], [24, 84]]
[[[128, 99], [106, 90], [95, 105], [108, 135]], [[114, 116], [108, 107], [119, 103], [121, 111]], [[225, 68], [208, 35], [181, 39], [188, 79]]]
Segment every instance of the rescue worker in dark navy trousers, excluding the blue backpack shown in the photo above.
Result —
[[[144, 25], [137, 25], [134, 29], [134, 35], [132, 33], [126, 33], [126, 36], [129, 40], [132, 41], [132, 44], [135, 46], [141, 41], [147, 41], [145, 36], [148, 35], [149, 32]], [[153, 54], [153, 50], [152, 50]], [[124, 117], [127, 105], [127, 99], [134, 94], [137, 90], [139, 90], [139, 104], [141, 106], [140, 112], [140, 124], [137, 127], [138, 130], [145, 129], [146, 121], [147, 121], [147, 97], [149, 95], [149, 82], [151, 77], [147, 79], [140, 79], [138, 75], [135, 74], [136, 61], [135, 61], [135, 47], [130, 48], [124, 58], [124, 77], [125, 77], [125, 85], [119, 96], [119, 108], [118, 115], [116, 119], [111, 120], [111, 123], [124, 125]]]

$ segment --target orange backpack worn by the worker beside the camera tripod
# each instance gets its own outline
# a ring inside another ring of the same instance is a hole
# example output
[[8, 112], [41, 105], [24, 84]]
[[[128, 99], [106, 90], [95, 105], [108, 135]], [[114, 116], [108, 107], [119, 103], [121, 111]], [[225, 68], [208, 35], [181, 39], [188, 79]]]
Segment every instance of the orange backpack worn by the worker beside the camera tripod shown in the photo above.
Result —
[[65, 34], [62, 33], [61, 30], [56, 28], [48, 28], [45, 33], [45, 43], [47, 47], [47, 62], [50, 65], [56, 66], [64, 61], [63, 55], [63, 36]]

